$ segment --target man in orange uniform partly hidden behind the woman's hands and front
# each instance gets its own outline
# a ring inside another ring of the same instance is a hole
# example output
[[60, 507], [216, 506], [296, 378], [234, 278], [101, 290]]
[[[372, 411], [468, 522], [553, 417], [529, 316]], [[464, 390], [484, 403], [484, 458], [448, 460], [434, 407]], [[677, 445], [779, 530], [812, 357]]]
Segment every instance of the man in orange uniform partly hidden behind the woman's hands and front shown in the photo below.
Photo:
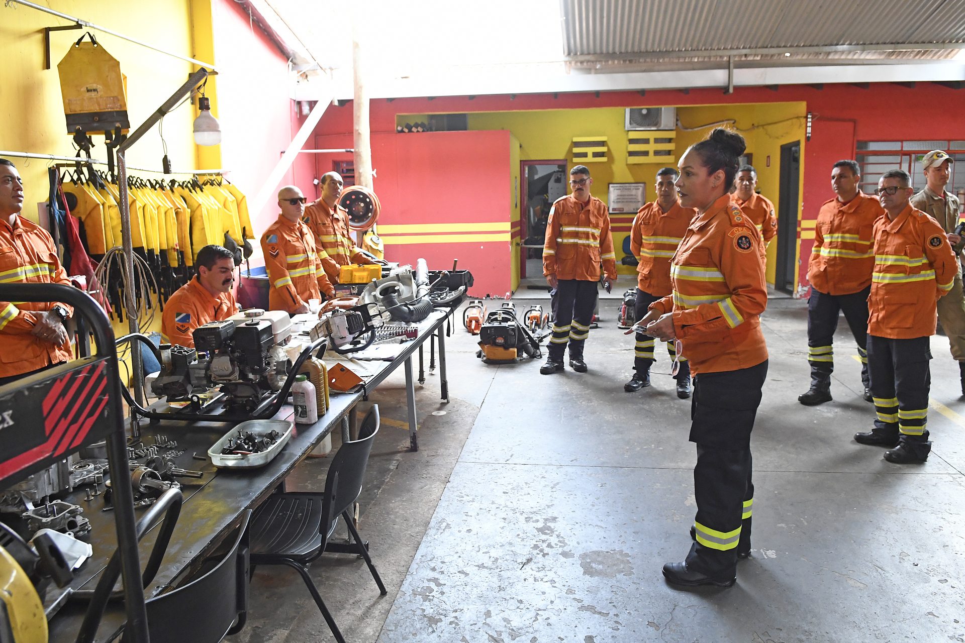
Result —
[[[657, 173], [657, 200], [647, 203], [637, 213], [630, 232], [630, 252], [640, 263], [637, 266], [637, 301], [635, 318], [647, 314], [653, 302], [671, 294], [670, 260], [674, 256], [683, 233], [694, 218], [696, 210], [680, 207], [677, 199], [676, 169], [664, 168]], [[633, 392], [650, 386], [650, 365], [654, 362], [653, 337], [645, 335], [640, 327], [634, 345], [633, 377], [623, 385], [623, 390]], [[690, 365], [687, 359], [676, 354], [676, 342], [667, 342], [667, 353], [677, 362], [676, 396], [690, 397]]]

